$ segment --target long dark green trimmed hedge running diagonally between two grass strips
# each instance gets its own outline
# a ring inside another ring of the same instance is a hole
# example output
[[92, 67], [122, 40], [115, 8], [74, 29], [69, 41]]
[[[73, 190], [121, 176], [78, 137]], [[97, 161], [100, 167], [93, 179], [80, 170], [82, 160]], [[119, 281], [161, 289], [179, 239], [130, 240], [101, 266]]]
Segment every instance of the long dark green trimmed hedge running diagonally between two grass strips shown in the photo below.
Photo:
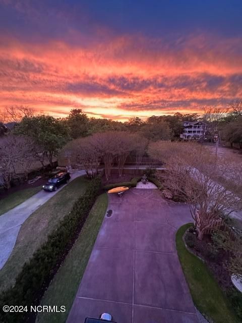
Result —
[[1, 322], [24, 322], [30, 313], [30, 306], [38, 304], [44, 288], [61, 265], [80, 227], [84, 224], [100, 186], [100, 177], [89, 183], [86, 192], [75, 202], [72, 211], [63, 218], [56, 230], [48, 236], [47, 241], [24, 264], [15, 285], [1, 295], [0, 304], [27, 305], [28, 312], [4, 313], [1, 311]]

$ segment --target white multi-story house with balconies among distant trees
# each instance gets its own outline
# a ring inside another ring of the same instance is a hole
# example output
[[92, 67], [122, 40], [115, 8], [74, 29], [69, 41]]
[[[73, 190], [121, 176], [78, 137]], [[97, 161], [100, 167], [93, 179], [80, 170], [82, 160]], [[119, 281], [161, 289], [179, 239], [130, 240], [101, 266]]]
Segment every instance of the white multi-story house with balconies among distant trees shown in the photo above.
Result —
[[188, 139], [201, 139], [206, 132], [206, 124], [202, 121], [184, 121], [183, 133], [180, 134], [180, 138]]

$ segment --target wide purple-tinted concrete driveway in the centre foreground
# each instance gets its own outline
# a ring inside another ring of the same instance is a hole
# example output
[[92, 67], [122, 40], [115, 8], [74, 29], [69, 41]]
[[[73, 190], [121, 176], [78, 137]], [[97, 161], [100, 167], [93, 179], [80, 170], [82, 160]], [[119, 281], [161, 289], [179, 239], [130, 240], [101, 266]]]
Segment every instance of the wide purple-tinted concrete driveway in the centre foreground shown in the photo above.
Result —
[[175, 248], [189, 208], [132, 189], [109, 194], [108, 209], [67, 322], [103, 312], [117, 323], [198, 322]]

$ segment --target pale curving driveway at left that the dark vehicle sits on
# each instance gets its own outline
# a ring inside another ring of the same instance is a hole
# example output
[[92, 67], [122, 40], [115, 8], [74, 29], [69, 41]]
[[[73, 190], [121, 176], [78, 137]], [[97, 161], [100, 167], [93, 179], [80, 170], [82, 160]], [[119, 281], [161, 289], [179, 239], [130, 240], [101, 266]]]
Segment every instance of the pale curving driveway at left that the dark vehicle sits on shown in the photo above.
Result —
[[[84, 174], [85, 171], [78, 171], [71, 175], [70, 181]], [[21, 225], [37, 208], [43, 205], [65, 186], [66, 185], [63, 185], [56, 192], [40, 191], [25, 202], [0, 216], [0, 270], [8, 260], [14, 248]]]

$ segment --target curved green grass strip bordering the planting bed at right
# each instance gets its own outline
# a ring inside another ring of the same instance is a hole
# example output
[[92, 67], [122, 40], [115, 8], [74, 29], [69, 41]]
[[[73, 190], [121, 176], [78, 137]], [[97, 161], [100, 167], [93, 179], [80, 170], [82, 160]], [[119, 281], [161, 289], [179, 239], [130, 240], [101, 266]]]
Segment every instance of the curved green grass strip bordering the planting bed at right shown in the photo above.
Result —
[[199, 311], [213, 323], [235, 323], [238, 320], [217, 281], [206, 264], [190, 253], [183, 242], [184, 233], [191, 225], [184, 225], [177, 231], [176, 249], [193, 301]]

